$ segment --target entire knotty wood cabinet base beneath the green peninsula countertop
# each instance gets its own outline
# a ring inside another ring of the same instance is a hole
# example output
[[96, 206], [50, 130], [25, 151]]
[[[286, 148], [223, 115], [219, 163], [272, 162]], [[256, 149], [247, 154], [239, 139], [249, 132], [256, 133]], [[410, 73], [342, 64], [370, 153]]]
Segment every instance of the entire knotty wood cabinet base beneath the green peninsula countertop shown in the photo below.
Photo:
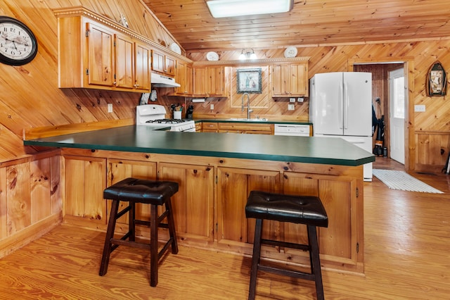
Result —
[[[321, 263], [364, 272], [362, 166], [87, 149], [62, 152], [65, 223], [105, 230], [110, 207], [103, 199], [105, 187], [131, 176], [170, 180], [179, 183], [172, 205], [180, 244], [251, 255], [255, 220], [245, 218], [250, 191], [313, 195], [321, 198], [329, 218], [328, 228], [318, 228]], [[138, 206], [137, 215], [148, 218], [148, 207]], [[127, 216], [122, 218], [119, 230], [124, 231]], [[139, 228], [138, 235], [148, 237], [148, 228]], [[263, 237], [304, 243], [307, 231], [304, 225], [264, 221]], [[309, 264], [307, 252], [281, 247], [264, 246], [262, 257]]]

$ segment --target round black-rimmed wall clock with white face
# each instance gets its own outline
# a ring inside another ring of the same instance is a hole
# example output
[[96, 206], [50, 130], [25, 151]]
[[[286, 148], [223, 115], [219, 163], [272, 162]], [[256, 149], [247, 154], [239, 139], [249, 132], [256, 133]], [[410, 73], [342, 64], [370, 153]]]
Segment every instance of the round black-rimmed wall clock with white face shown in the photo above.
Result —
[[24, 23], [0, 15], [0, 63], [25, 65], [37, 54], [37, 40]]

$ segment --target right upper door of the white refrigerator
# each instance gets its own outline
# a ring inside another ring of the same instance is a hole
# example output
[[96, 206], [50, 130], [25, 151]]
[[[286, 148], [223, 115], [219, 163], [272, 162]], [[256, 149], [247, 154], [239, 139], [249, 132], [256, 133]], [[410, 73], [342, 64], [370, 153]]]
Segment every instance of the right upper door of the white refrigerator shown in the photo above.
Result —
[[344, 75], [344, 135], [372, 135], [372, 74]]

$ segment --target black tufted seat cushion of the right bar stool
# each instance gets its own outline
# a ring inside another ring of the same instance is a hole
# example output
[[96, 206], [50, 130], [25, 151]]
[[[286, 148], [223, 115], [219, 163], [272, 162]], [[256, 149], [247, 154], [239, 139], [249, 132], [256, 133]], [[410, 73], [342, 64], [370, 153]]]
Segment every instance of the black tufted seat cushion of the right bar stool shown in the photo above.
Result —
[[247, 218], [328, 227], [328, 216], [316, 196], [294, 196], [252, 191], [245, 206]]

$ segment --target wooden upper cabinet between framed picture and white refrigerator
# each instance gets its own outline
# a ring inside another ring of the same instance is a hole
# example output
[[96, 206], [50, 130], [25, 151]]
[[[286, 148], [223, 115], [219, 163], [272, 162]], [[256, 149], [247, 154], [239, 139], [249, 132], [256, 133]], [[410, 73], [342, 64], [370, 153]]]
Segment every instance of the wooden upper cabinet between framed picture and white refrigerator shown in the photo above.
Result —
[[278, 63], [272, 66], [272, 96], [308, 96], [308, 63]]

